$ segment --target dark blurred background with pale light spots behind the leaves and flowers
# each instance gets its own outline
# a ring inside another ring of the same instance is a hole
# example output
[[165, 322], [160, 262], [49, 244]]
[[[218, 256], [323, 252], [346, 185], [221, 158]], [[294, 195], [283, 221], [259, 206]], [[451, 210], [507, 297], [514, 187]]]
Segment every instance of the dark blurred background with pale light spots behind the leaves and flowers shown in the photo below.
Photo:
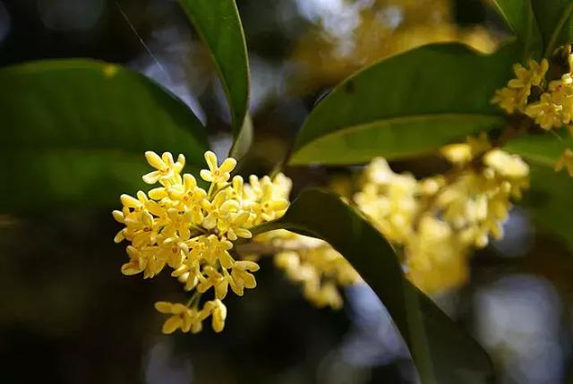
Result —
[[[237, 5], [252, 70], [256, 140], [247, 167], [255, 173], [284, 158], [317, 100], [364, 65], [430, 42], [462, 41], [488, 53], [507, 36], [478, 0]], [[216, 152], [226, 154], [223, 92], [175, 1], [0, 0], [0, 64], [56, 57], [145, 73], [182, 98], [208, 125]], [[394, 166], [427, 175], [433, 164]], [[286, 169], [297, 189], [349, 172]], [[153, 303], [181, 298], [180, 286], [167, 276], [120, 273], [124, 246], [112, 241], [118, 226], [111, 209], [0, 212], [0, 382], [416, 382], [402, 341], [367, 286], [348, 288], [341, 311], [317, 310], [269, 260], [261, 263], [257, 289], [227, 299], [223, 333], [162, 336]], [[568, 382], [571, 254], [536, 234], [525, 210], [514, 209], [505, 229], [503, 241], [475, 255], [466, 286], [434, 298], [492, 354], [500, 383]]]

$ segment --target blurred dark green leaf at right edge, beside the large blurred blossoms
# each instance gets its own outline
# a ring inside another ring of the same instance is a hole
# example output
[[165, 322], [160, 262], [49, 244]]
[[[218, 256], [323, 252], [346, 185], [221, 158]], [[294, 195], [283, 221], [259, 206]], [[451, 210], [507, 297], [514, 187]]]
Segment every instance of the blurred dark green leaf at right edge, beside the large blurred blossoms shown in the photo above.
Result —
[[531, 188], [523, 206], [531, 213], [537, 230], [554, 235], [573, 251], [573, 178], [567, 171], [530, 167]]

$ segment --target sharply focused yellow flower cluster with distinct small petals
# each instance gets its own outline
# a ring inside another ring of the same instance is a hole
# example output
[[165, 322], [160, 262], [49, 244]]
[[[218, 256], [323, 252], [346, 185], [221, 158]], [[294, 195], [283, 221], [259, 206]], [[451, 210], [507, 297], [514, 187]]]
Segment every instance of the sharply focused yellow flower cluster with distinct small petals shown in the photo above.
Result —
[[[205, 160], [209, 169], [201, 170], [201, 178], [210, 183], [206, 191], [189, 174], [181, 175], [184, 157], [177, 160], [166, 152], [161, 157], [146, 152], [154, 171], [143, 176], [145, 183], [158, 186], [136, 197], [121, 196], [123, 209], [113, 212], [124, 224], [115, 235], [115, 242], [131, 242], [127, 246], [129, 261], [122, 266], [124, 275], [143, 273], [154, 277], [167, 266], [171, 276], [194, 290], [189, 303], [156, 303], [161, 313], [171, 315], [164, 324], [165, 333], [181, 329], [198, 332], [209, 316], [212, 327], [221, 331], [225, 326], [227, 308], [222, 300], [228, 287], [238, 295], [244, 288], [253, 288], [252, 272], [259, 265], [252, 260], [235, 260], [234, 243], [238, 238], [251, 238], [250, 228], [279, 218], [288, 207], [286, 193], [290, 180], [279, 174], [274, 179], [251, 175], [249, 183], [241, 176], [231, 179], [236, 165], [234, 158], [218, 165], [217, 157], [208, 151]], [[203, 304], [201, 294], [213, 288], [214, 300]]]

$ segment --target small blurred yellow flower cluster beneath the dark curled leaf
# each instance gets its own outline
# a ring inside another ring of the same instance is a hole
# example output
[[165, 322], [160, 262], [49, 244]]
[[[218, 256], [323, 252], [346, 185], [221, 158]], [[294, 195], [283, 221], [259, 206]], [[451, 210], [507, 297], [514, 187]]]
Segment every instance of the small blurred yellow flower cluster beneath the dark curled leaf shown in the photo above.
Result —
[[279, 229], [259, 235], [255, 241], [277, 250], [275, 265], [302, 286], [304, 298], [319, 308], [341, 308], [338, 286], [362, 281], [350, 263], [322, 240]]

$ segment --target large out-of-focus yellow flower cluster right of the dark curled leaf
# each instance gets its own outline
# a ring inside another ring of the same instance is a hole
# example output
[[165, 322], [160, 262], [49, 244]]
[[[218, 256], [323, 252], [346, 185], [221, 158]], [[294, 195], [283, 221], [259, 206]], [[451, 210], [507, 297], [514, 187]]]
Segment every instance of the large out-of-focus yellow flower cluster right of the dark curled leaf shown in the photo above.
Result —
[[441, 149], [448, 175], [416, 180], [394, 173], [383, 158], [364, 171], [354, 201], [389, 242], [404, 253], [406, 274], [432, 293], [466, 280], [466, 259], [490, 235], [500, 238], [511, 200], [528, 186], [529, 167], [492, 149], [486, 137]]

